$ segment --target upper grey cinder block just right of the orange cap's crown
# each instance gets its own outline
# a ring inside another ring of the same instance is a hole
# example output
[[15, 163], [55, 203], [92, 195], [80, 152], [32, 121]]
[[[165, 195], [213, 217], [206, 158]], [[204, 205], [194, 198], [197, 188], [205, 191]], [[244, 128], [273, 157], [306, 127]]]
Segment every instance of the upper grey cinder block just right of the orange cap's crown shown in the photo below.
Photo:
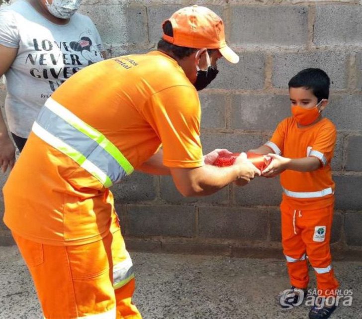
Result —
[[230, 10], [232, 43], [245, 45], [302, 46], [308, 39], [306, 6], [234, 6]]

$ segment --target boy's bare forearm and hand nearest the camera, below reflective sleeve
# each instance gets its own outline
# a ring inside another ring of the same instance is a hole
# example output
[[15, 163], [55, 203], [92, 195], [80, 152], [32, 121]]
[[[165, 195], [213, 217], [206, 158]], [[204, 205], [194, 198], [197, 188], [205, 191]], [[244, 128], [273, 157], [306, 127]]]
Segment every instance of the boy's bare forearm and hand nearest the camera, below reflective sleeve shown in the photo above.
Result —
[[273, 153], [268, 154], [272, 161], [262, 172], [265, 177], [274, 177], [285, 170], [311, 172], [319, 169], [323, 164], [317, 157], [287, 158]]

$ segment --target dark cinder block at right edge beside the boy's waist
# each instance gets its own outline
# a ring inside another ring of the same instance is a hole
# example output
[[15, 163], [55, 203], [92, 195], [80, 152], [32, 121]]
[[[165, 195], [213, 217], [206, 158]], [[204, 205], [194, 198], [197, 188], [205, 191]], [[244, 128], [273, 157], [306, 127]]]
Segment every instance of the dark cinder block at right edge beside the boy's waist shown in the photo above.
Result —
[[336, 209], [362, 211], [362, 177], [334, 176], [336, 182]]

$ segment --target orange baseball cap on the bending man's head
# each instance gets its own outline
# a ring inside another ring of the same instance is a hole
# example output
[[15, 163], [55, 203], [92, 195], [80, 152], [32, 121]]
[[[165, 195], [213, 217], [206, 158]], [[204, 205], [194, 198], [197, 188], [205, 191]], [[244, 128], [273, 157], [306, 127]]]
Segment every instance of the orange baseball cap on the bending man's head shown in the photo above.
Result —
[[225, 41], [224, 22], [209, 8], [192, 5], [176, 11], [167, 21], [172, 24], [174, 36], [163, 34], [169, 43], [195, 49], [218, 49], [231, 63], [238, 63], [239, 56], [231, 50]]

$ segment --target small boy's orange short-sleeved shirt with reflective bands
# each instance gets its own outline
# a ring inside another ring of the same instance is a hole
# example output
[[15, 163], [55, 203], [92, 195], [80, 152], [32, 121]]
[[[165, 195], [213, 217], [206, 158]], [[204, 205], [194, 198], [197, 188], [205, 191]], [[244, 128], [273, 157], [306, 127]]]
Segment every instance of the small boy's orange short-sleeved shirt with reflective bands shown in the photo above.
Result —
[[[334, 203], [335, 184], [332, 180], [331, 160], [336, 143], [337, 131], [328, 118], [322, 118], [309, 127], [298, 127], [293, 117], [282, 120], [277, 126], [270, 142], [277, 146], [271, 148], [280, 151], [283, 157], [303, 158], [315, 156], [321, 161], [321, 167], [312, 172], [286, 170], [280, 175], [284, 189], [283, 199], [296, 209], [318, 209]], [[332, 190], [332, 194], [321, 197], [309, 197], [305, 193]], [[287, 194], [304, 193], [305, 198], [296, 198]]]

